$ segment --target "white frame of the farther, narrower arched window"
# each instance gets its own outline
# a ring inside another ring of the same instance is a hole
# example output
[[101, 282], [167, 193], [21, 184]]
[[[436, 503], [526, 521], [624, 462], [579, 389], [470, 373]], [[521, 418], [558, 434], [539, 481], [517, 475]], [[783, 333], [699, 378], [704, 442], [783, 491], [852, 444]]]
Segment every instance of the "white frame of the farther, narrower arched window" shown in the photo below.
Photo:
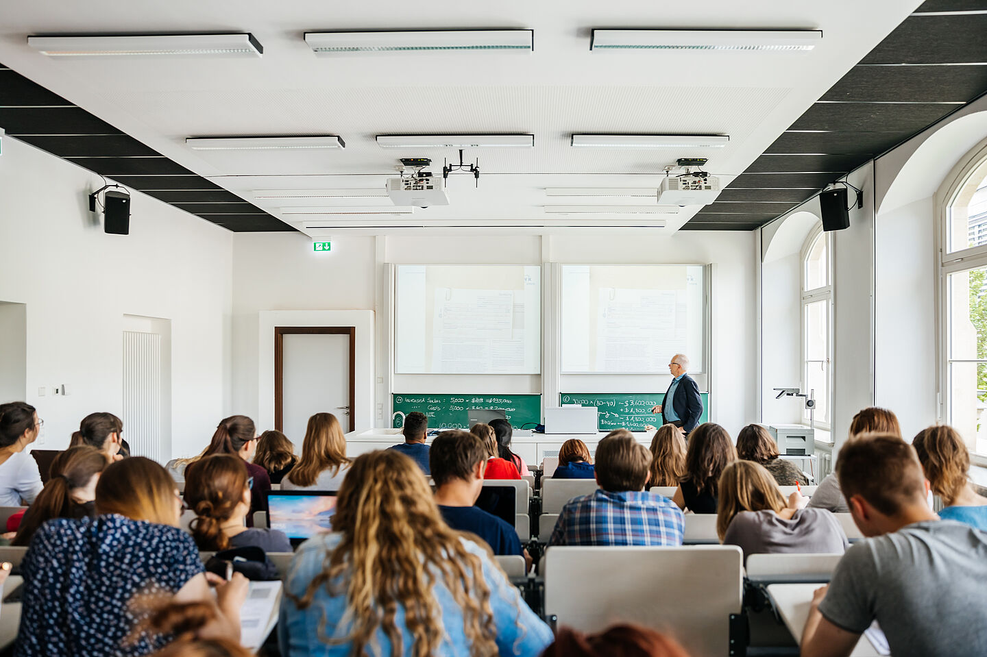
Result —
[[[805, 289], [806, 278], [807, 278], [807, 263], [808, 256], [812, 252], [812, 247], [815, 246], [816, 240], [826, 241], [826, 262], [825, 262], [825, 273], [826, 273], [826, 284], [820, 287], [814, 287], [812, 289]], [[798, 381], [799, 386], [802, 391], [806, 394], [809, 393], [807, 390], [807, 381], [805, 378], [805, 370], [807, 368], [808, 362], [805, 359], [806, 356], [806, 335], [805, 335], [805, 309], [806, 307], [818, 301], [826, 301], [826, 364], [827, 376], [826, 376], [826, 415], [819, 417], [818, 413], [813, 418], [813, 422], [817, 429], [823, 429], [826, 431], [832, 430], [832, 419], [833, 419], [833, 239], [829, 233], [822, 230], [822, 222], [817, 223], [811, 231], [809, 231], [808, 236], [805, 238], [805, 242], [802, 244], [801, 251], [798, 254], [798, 264], [799, 264], [799, 279], [798, 279], [798, 348], [799, 348], [799, 373]], [[813, 361], [814, 362], [814, 361]], [[809, 412], [804, 406], [802, 407], [801, 418], [803, 422], [808, 423]]]

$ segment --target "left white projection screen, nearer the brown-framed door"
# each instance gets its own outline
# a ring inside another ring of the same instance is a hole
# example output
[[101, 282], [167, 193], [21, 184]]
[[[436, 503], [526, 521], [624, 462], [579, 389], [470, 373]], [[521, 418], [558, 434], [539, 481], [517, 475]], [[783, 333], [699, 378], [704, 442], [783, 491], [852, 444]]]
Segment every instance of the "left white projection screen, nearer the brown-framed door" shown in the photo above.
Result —
[[540, 266], [395, 271], [395, 374], [541, 373]]

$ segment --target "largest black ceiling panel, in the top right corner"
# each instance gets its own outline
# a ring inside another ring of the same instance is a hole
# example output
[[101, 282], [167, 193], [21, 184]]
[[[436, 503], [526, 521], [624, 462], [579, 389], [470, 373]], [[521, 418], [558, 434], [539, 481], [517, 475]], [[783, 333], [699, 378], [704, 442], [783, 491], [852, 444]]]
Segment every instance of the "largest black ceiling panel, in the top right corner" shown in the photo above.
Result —
[[862, 64], [987, 62], [987, 14], [911, 16], [861, 60]]

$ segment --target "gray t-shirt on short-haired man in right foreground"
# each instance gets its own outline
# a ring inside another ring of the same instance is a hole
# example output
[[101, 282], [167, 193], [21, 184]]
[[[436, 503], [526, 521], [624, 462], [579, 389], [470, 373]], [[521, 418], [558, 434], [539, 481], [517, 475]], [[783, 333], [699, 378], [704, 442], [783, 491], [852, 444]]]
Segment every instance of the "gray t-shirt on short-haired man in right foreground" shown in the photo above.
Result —
[[930, 520], [848, 549], [819, 611], [855, 633], [876, 619], [894, 657], [987, 655], [984, 582], [987, 534]]

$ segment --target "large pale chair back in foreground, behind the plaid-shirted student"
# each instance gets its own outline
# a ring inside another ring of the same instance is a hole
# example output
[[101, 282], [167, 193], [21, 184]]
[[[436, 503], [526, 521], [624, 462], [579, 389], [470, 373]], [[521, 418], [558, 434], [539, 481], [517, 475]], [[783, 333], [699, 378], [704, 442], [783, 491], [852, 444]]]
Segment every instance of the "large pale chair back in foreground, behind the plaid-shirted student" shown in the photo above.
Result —
[[670, 632], [691, 654], [726, 655], [741, 558], [736, 546], [549, 547], [545, 613], [586, 632], [637, 622]]

